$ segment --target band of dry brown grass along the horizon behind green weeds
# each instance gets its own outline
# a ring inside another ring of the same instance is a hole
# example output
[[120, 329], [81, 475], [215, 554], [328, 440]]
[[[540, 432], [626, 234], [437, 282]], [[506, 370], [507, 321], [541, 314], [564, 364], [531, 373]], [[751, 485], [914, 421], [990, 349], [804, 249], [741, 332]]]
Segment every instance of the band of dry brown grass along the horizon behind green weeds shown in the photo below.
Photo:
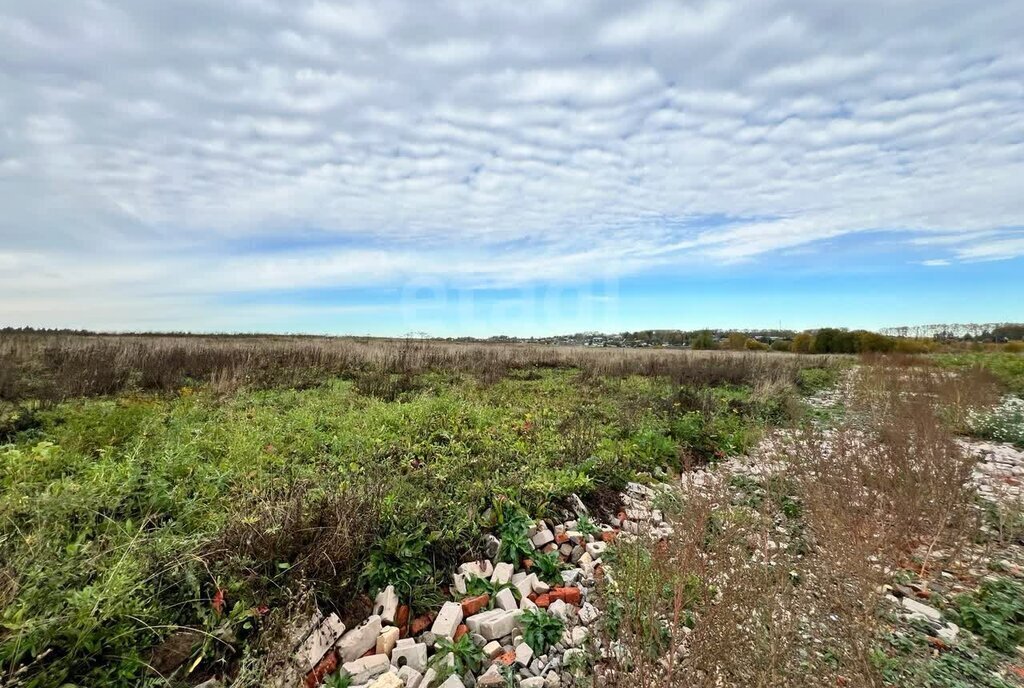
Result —
[[[587, 349], [528, 344], [316, 337], [0, 335], [0, 399], [59, 400], [188, 385], [307, 387], [330, 376], [428, 371], [494, 382], [524, 368], [587, 376], [664, 376], [679, 384], [795, 380], [824, 358], [786, 354]], [[386, 387], [381, 380], [371, 386]], [[387, 392], [387, 390], [385, 390]]]

